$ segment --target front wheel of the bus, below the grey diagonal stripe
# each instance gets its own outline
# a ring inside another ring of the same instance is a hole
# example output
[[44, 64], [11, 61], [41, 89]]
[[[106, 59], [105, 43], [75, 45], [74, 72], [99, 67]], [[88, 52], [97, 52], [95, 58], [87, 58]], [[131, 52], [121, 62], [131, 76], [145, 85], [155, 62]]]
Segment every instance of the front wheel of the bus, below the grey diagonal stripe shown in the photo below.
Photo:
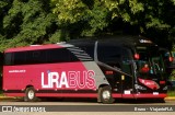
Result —
[[103, 87], [103, 88], [100, 88], [98, 90], [98, 96], [101, 99], [101, 102], [103, 104], [112, 104], [114, 103], [114, 99], [112, 96], [112, 90], [110, 90], [110, 87], [106, 85], [106, 87]]

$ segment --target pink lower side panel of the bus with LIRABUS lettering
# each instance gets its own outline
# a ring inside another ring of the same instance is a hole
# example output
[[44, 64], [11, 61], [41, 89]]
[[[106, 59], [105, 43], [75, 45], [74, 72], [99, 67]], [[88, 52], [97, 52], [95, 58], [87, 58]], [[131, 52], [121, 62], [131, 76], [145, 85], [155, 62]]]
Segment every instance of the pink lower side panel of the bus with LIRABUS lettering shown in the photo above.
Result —
[[5, 66], [3, 71], [7, 93], [24, 92], [30, 85], [38, 93], [96, 92], [95, 71], [86, 70], [82, 62]]

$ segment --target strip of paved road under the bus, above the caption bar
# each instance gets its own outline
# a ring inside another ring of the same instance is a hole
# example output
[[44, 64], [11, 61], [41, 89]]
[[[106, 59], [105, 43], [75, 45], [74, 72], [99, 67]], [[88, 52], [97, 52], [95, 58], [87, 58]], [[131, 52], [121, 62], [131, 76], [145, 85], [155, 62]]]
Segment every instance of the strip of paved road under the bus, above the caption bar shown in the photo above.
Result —
[[[0, 100], [0, 105], [105, 105], [92, 99], [42, 99], [37, 102], [24, 102], [23, 99]], [[175, 105], [175, 100], [165, 103], [159, 100], [116, 100], [109, 105]]]

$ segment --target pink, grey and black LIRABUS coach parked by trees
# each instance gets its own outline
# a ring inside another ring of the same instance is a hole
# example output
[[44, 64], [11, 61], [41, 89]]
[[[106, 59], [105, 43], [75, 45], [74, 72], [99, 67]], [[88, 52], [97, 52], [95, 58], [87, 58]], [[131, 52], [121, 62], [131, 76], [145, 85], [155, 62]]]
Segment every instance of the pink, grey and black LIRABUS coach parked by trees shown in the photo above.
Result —
[[167, 85], [159, 47], [142, 37], [83, 39], [9, 48], [3, 91], [9, 96], [161, 99]]

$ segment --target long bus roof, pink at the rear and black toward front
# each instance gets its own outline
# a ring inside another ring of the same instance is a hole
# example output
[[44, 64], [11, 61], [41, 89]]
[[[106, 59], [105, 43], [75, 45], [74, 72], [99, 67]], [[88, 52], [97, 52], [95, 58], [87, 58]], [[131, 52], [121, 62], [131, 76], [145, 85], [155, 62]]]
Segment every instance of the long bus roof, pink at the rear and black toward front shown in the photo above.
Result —
[[90, 37], [90, 38], [81, 38], [81, 39], [73, 39], [67, 43], [58, 43], [58, 44], [48, 44], [48, 45], [31, 45], [25, 47], [16, 47], [16, 48], [9, 48], [4, 50], [4, 53], [11, 51], [24, 51], [24, 50], [37, 50], [37, 49], [48, 49], [48, 48], [61, 48], [61, 47], [69, 47], [71, 45], [88, 45], [94, 44], [95, 42], [106, 43], [109, 45], [155, 45], [150, 39], [141, 36], [103, 36], [103, 37]]

